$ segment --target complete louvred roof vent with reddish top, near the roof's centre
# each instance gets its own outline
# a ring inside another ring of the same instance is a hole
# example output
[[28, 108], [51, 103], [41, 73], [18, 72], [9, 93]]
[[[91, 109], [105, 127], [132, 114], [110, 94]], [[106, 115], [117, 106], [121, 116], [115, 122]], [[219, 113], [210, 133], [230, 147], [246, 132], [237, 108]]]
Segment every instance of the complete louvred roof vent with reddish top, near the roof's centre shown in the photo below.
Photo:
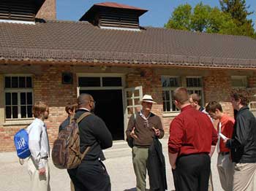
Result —
[[94, 4], [80, 21], [86, 20], [101, 28], [139, 29], [139, 17], [148, 10], [124, 4], [105, 2]]

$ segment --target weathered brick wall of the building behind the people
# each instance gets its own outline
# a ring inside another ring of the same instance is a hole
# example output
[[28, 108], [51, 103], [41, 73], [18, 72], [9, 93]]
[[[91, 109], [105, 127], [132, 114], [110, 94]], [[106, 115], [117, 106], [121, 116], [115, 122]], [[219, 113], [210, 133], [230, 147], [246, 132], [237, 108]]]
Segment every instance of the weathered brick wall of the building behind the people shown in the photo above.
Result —
[[[94, 68], [93, 68], [94, 69]], [[72, 66], [41, 66], [42, 72], [36, 74], [34, 82], [34, 101], [46, 101], [50, 106], [48, 125], [48, 134], [50, 144], [58, 134], [59, 124], [67, 117], [64, 106], [67, 102], [75, 102], [77, 96], [77, 78], [76, 72], [93, 72], [92, 69], [78, 70]], [[61, 83], [61, 73], [72, 71], [74, 82], [72, 85], [63, 85]], [[102, 72], [102, 71], [96, 71]], [[116, 71], [112, 71], [116, 73]], [[143, 94], [152, 95], [157, 104], [153, 105], [152, 112], [161, 117], [165, 135], [168, 135], [170, 121], [173, 117], [163, 117], [162, 114], [162, 84], [161, 72], [155, 69], [133, 69], [126, 76], [127, 87], [143, 86]], [[256, 75], [248, 77], [248, 86], [250, 95], [256, 94]], [[1, 79], [1, 78], [0, 78]], [[1, 81], [1, 80], [0, 80]], [[2, 84], [3, 82], [0, 82]], [[0, 87], [1, 89], [1, 87]], [[231, 81], [230, 75], [225, 71], [209, 71], [206, 77], [203, 77], [203, 91], [205, 103], [208, 101], [219, 101], [222, 104], [224, 112], [233, 116], [233, 108], [230, 104]], [[1, 93], [1, 90], [0, 90]], [[251, 96], [255, 99], [255, 96]], [[1, 99], [0, 99], [1, 102]], [[0, 103], [1, 106], [1, 103]], [[1, 108], [2, 109], [2, 108]], [[1, 116], [1, 112], [0, 112]], [[11, 151], [14, 149], [13, 136], [20, 128], [26, 125], [1, 125], [0, 123], [0, 152]], [[126, 127], [124, 127], [126, 128]]]

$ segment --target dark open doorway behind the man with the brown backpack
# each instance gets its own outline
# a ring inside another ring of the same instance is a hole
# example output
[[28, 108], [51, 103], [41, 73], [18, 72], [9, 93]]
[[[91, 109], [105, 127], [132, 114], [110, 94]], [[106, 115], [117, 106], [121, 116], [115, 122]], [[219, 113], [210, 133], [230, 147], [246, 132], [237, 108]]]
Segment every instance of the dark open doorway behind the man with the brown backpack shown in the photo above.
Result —
[[80, 90], [96, 101], [94, 114], [102, 118], [113, 140], [124, 140], [124, 111], [122, 90]]

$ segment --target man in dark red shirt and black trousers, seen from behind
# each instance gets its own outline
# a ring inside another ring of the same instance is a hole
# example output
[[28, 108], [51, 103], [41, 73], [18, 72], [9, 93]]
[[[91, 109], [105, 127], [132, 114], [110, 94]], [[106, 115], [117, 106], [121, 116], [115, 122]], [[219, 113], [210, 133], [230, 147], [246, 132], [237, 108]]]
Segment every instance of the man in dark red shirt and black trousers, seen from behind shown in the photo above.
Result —
[[189, 104], [187, 89], [178, 87], [173, 94], [181, 113], [170, 123], [168, 152], [176, 191], [206, 191], [211, 171], [211, 145], [218, 136], [207, 114]]

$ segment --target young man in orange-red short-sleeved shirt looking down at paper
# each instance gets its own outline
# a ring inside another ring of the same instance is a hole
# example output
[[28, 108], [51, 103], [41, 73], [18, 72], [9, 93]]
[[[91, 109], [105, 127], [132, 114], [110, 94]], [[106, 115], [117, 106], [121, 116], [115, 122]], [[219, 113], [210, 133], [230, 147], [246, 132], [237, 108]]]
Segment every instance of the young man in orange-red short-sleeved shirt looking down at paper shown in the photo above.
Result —
[[[222, 106], [217, 101], [210, 101], [206, 106], [206, 112], [214, 119], [219, 120], [218, 133], [222, 133], [227, 138], [232, 138], [235, 120], [222, 112]], [[225, 191], [233, 190], [234, 164], [230, 158], [230, 149], [225, 147], [223, 139], [219, 138], [217, 146], [218, 160], [217, 168], [219, 180]]]

